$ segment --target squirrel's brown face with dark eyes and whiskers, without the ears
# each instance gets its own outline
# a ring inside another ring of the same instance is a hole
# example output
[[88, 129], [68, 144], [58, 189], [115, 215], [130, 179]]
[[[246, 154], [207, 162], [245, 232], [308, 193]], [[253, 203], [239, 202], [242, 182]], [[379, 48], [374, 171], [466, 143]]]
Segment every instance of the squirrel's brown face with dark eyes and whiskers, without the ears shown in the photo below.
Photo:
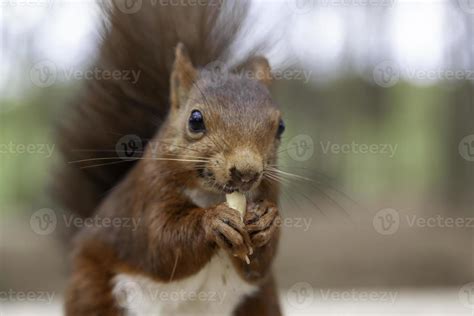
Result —
[[194, 169], [203, 189], [251, 191], [276, 163], [284, 123], [268, 90], [257, 81], [235, 75], [215, 86], [202, 78], [176, 121], [181, 154], [199, 160]]

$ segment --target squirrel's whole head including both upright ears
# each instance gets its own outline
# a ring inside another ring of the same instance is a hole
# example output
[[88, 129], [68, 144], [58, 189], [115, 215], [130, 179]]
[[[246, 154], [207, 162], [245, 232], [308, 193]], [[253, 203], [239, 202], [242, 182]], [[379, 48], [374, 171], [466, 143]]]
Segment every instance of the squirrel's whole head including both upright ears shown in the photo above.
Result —
[[276, 163], [285, 126], [267, 89], [270, 76], [263, 57], [233, 72], [194, 68], [178, 45], [167, 136], [175, 157], [192, 160], [201, 188], [251, 191]]

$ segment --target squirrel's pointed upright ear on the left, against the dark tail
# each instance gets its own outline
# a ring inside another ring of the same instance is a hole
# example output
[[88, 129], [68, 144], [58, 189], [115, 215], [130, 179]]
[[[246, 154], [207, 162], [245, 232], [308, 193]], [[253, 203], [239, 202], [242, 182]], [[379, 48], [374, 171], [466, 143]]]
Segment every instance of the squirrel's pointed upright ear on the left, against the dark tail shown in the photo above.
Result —
[[194, 68], [183, 43], [179, 43], [175, 51], [175, 60], [171, 73], [171, 106], [179, 108], [187, 99], [197, 71]]

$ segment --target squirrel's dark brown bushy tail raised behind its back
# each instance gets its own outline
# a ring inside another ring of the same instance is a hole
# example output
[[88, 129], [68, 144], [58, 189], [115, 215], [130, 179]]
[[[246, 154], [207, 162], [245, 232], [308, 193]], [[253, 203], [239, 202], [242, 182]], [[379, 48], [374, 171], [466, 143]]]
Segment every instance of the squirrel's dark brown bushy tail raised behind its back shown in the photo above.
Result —
[[[64, 167], [54, 178], [54, 191], [67, 211], [91, 216], [133, 167], [134, 161], [123, 159], [126, 151], [140, 156], [143, 144], [137, 142], [158, 130], [169, 108], [170, 73], [179, 42], [197, 67], [229, 55], [249, 4], [204, 2], [123, 0], [104, 6], [104, 34], [92, 67], [112, 76], [85, 82], [65, 109], [58, 131]], [[117, 146], [121, 139], [133, 145], [123, 147], [123, 155]]]

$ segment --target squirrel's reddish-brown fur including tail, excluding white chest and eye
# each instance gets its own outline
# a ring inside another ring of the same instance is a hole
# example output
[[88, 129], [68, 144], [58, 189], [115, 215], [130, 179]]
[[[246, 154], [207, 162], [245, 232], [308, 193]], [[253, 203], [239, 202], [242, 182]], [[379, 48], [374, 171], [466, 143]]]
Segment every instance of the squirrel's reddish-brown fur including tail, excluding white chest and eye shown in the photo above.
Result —
[[[118, 273], [176, 281], [197, 273], [223, 248], [240, 276], [260, 288], [235, 314], [279, 315], [271, 275], [279, 236], [278, 188], [263, 177], [247, 188], [254, 192], [254, 202], [249, 203], [244, 222], [225, 203], [200, 208], [186, 194], [192, 189], [224, 194], [232, 166], [262, 172], [276, 163], [280, 114], [266, 88], [268, 62], [258, 57], [239, 68], [260, 72], [260, 81], [229, 73], [225, 80], [217, 78], [224, 81], [216, 86], [216, 78], [198, 67], [225, 53], [232, 39], [232, 32], [219, 36], [213, 31], [218, 8], [168, 9], [143, 9], [136, 15], [111, 13], [112, 28], [105, 37], [100, 63], [142, 69], [144, 77], [133, 87], [96, 82], [86, 88], [78, 117], [63, 131], [63, 151], [69, 160], [91, 157], [90, 152], [77, 149], [96, 150], [95, 156], [113, 149], [126, 134], [150, 139], [143, 159], [133, 164], [85, 170], [69, 166], [63, 173], [65, 182], [60, 184], [73, 193], [64, 194], [63, 201], [79, 215], [139, 221], [136, 230], [120, 226], [80, 232], [66, 314], [120, 315], [111, 295], [111, 280]], [[197, 33], [192, 31], [196, 25], [190, 23], [191, 17], [199, 26]], [[157, 46], [153, 46], [147, 36], [154, 27], [174, 31], [169, 36], [157, 35]], [[236, 30], [238, 24], [232, 28]], [[171, 68], [169, 49], [179, 41], [184, 45], [178, 45]], [[189, 55], [184, 47], [189, 48]], [[207, 130], [203, 135], [187, 129], [193, 109], [204, 113]], [[163, 121], [159, 129], [149, 120], [151, 116]], [[101, 133], [99, 127], [111, 133]], [[157, 144], [165, 146], [153, 146]], [[191, 156], [205, 157], [206, 163], [155, 160]], [[203, 170], [212, 177], [202, 176]], [[249, 265], [242, 260], [246, 255]]]

